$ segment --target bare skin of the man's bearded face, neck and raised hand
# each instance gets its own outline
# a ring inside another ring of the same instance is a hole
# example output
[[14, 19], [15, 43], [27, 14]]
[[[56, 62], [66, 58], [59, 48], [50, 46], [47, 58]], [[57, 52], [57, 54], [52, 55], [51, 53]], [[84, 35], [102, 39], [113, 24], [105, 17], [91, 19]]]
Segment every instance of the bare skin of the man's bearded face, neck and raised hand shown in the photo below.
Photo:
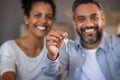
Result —
[[[94, 49], [99, 45], [102, 26], [105, 25], [105, 16], [95, 4], [88, 3], [77, 6], [72, 23], [79, 36], [84, 38], [81, 43], [86, 49]], [[68, 34], [53, 30], [46, 37], [48, 58], [55, 60], [63, 44], [63, 38], [68, 37]]]

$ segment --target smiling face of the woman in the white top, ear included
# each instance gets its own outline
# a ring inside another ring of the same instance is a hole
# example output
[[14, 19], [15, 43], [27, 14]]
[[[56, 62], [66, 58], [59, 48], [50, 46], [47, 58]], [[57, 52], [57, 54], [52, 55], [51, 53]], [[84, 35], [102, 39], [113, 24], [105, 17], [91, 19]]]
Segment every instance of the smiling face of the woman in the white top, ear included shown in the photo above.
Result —
[[34, 3], [30, 16], [25, 16], [25, 23], [29, 25], [29, 34], [43, 38], [51, 30], [53, 19], [53, 9], [50, 4]]

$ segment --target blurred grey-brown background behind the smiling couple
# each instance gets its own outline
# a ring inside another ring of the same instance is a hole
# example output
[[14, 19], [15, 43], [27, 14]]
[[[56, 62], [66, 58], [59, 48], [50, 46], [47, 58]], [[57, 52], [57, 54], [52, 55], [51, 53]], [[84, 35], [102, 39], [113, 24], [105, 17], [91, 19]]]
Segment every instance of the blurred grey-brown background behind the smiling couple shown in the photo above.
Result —
[[[77, 35], [71, 24], [72, 4], [74, 0], [54, 0], [57, 7], [56, 20], [53, 28], [69, 33], [71, 39]], [[100, 0], [104, 6], [107, 24], [106, 32], [112, 35], [120, 33], [120, 0]], [[23, 11], [20, 0], [0, 0], [0, 45], [9, 39], [27, 34], [24, 26]]]

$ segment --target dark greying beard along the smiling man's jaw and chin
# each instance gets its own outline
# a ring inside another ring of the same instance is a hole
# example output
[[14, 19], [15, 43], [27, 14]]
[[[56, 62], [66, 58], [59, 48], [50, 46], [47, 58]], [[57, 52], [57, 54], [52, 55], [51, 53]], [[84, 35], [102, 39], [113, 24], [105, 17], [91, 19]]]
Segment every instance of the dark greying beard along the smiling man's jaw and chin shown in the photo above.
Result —
[[[81, 32], [82, 32], [82, 30], [81, 30]], [[96, 28], [96, 35], [94, 38], [91, 38], [91, 39], [85, 38], [85, 36], [83, 34], [80, 34], [78, 30], [77, 30], [77, 33], [79, 34], [81, 41], [88, 43], [88, 44], [94, 44], [102, 36], [102, 29], [98, 30], [98, 27], [97, 27]]]

